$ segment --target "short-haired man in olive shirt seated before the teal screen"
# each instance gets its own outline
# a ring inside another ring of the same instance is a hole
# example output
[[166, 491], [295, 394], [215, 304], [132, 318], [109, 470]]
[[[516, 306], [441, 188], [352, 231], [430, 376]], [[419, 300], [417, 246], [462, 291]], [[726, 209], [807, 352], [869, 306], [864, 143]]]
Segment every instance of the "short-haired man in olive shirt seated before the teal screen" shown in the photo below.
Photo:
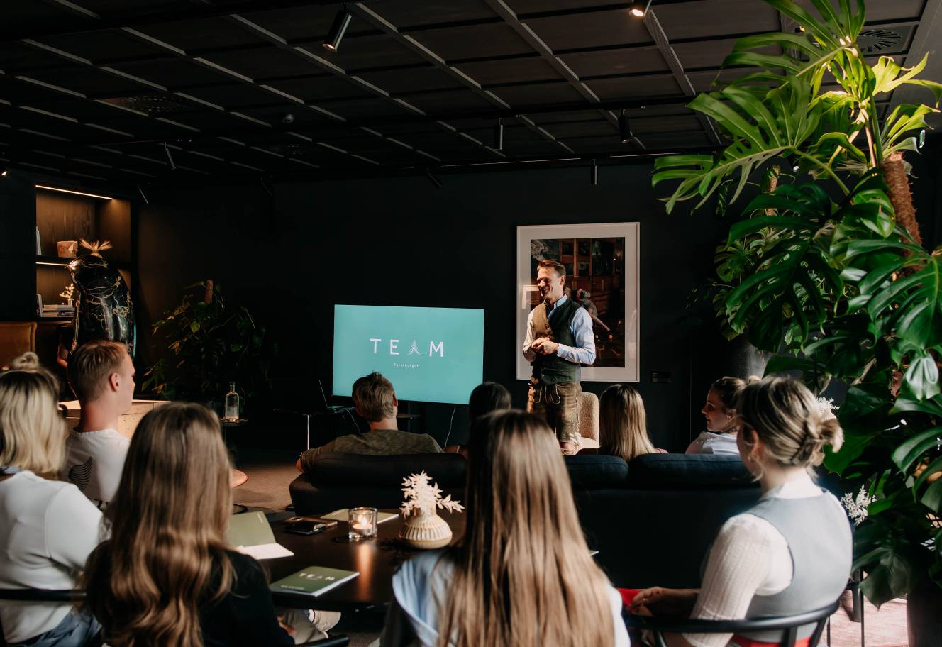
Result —
[[366, 433], [340, 436], [326, 445], [301, 452], [298, 470], [307, 472], [314, 459], [322, 453], [337, 451], [349, 454], [433, 454], [442, 451], [427, 433], [399, 431], [396, 414], [399, 401], [389, 380], [380, 373], [370, 373], [353, 382], [353, 405], [369, 423]]

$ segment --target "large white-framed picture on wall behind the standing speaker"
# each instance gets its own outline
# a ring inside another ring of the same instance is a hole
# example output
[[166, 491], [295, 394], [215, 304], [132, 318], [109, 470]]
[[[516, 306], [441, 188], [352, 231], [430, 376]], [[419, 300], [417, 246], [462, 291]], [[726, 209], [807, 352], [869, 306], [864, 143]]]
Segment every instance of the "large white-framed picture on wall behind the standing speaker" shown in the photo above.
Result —
[[[520, 225], [517, 227], [517, 281], [516, 296], [514, 298], [517, 380], [529, 380], [532, 373], [532, 367], [523, 354], [523, 345], [527, 334], [527, 319], [537, 300], [533, 296], [533, 293], [536, 292], [535, 277], [531, 276], [532, 267], [536, 262], [534, 259], [539, 258], [544, 253], [543, 251], [548, 249], [552, 249], [552, 251], [546, 251], [545, 254], [552, 256], [555, 253], [555, 248], [553, 248], [555, 241], [560, 241], [560, 251], [565, 251], [570, 247], [573, 251], [574, 260], [571, 264], [566, 263], [567, 254], [560, 252], [560, 258], [557, 259], [564, 265], [573, 266], [572, 272], [567, 271], [566, 284], [567, 286], [578, 286], [578, 290], [574, 291], [571, 296], [576, 298], [579, 290], [586, 289], [582, 287], [583, 285], [590, 286], [594, 284], [595, 286], [602, 286], [602, 294], [596, 299], [608, 299], [605, 312], [601, 308], [598, 309], [600, 323], [597, 323], [594, 328], [597, 347], [596, 364], [603, 365], [584, 365], [582, 367], [582, 381], [637, 382], [641, 380], [638, 352], [641, 321], [639, 310], [640, 229], [641, 226], [638, 222]], [[610, 239], [615, 240], [612, 242]], [[619, 239], [624, 239], [621, 247], [619, 247]], [[580, 265], [584, 263], [581, 260], [584, 254], [578, 252], [585, 250], [586, 240], [590, 241], [589, 251], [592, 256], [588, 277], [578, 273]], [[602, 250], [598, 255], [595, 255], [599, 251], [599, 248], [595, 246], [595, 240], [599, 240], [599, 246]], [[572, 241], [572, 245], [565, 245], [566, 241]], [[624, 270], [620, 272], [620, 277], [618, 274], [621, 270], [621, 261], [617, 258], [617, 255], [613, 255], [610, 269], [605, 265], [608, 263], [605, 260], [607, 257], [601, 255], [608, 249], [609, 245], [613, 247], [615, 254], [619, 249], [623, 253]], [[605, 288], [605, 279], [593, 274], [595, 266], [602, 267], [602, 271], [609, 269], [610, 283], [608, 289]], [[612, 283], [617, 283], [618, 286], [612, 287]], [[624, 304], [613, 302], [612, 295], [617, 295], [616, 299], [620, 300], [623, 291]], [[591, 288], [589, 288], [589, 292], [592, 293]], [[607, 313], [613, 315], [607, 317]], [[604, 331], [603, 325], [609, 327], [609, 332]], [[610, 339], [609, 334], [611, 335]], [[620, 340], [624, 340], [624, 347], [620, 344]], [[621, 358], [618, 357], [619, 354], [621, 354]]]

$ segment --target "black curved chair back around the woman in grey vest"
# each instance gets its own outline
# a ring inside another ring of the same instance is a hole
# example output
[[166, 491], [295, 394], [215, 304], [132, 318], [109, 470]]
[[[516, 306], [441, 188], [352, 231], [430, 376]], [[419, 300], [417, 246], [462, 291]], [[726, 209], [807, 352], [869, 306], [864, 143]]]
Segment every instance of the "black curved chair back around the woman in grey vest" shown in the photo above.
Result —
[[780, 647], [795, 647], [798, 629], [815, 623], [815, 630], [808, 640], [808, 647], [817, 647], [824, 631], [824, 624], [840, 608], [840, 602], [806, 613], [781, 618], [755, 618], [752, 620], [690, 620], [676, 618], [654, 618], [635, 616], [625, 611], [625, 625], [629, 629], [649, 629], [654, 633], [656, 647], [667, 647], [663, 634], [743, 634], [753, 631], [782, 631]]

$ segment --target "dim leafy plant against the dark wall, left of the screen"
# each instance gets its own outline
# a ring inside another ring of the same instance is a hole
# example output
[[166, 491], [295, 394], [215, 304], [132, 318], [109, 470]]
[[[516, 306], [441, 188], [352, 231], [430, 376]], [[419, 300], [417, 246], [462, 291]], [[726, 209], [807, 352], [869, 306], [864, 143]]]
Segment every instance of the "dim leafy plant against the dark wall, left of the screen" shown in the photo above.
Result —
[[[200, 288], [199, 292], [195, 292]], [[235, 386], [241, 404], [268, 389], [268, 367], [277, 351], [245, 306], [230, 306], [211, 280], [187, 285], [180, 304], [154, 322], [168, 353], [144, 373], [144, 389], [170, 399], [185, 397], [219, 408]]]

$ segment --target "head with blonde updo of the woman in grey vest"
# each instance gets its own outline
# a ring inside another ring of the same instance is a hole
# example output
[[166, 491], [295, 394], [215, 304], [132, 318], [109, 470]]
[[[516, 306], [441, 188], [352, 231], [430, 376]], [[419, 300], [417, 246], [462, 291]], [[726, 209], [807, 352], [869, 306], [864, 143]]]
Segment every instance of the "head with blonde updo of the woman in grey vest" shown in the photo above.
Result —
[[767, 460], [774, 464], [810, 469], [824, 459], [825, 445], [837, 450], [844, 442], [837, 419], [821, 411], [818, 399], [792, 378], [750, 378], [736, 409], [743, 427], [740, 433], [748, 437], [755, 429]]

